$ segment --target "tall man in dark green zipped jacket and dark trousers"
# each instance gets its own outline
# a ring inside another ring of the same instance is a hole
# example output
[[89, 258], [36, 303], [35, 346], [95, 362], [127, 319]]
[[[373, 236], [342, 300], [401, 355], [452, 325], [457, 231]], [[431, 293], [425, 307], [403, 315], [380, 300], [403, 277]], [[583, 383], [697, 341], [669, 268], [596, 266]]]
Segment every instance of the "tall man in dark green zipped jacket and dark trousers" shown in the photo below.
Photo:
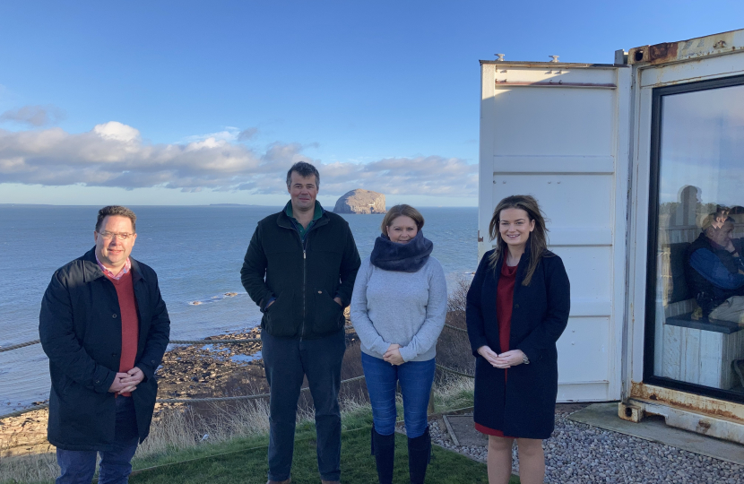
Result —
[[258, 222], [240, 279], [261, 308], [262, 356], [271, 391], [269, 484], [289, 483], [297, 402], [307, 376], [316, 408], [321, 480], [341, 476], [338, 393], [359, 253], [349, 224], [316, 201], [320, 175], [304, 161], [287, 172], [291, 200]]

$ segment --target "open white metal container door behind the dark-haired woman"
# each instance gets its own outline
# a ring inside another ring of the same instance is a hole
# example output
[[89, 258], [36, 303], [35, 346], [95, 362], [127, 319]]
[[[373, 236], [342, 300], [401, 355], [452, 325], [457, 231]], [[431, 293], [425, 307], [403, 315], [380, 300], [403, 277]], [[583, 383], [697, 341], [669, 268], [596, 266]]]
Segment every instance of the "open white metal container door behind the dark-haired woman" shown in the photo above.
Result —
[[481, 63], [479, 256], [497, 203], [535, 196], [571, 281], [559, 402], [620, 398], [630, 78], [620, 65]]

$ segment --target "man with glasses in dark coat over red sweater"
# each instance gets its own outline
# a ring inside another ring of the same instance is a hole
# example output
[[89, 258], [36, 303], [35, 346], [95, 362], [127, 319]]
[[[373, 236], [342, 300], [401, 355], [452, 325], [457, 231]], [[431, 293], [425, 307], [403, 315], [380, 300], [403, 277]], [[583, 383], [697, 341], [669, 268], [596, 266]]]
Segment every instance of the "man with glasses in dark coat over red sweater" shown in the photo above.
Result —
[[100, 209], [96, 245], [57, 269], [41, 301], [56, 484], [90, 484], [98, 453], [99, 484], [126, 482], [150, 431], [170, 320], [158, 276], [129, 256], [136, 220], [125, 207]]

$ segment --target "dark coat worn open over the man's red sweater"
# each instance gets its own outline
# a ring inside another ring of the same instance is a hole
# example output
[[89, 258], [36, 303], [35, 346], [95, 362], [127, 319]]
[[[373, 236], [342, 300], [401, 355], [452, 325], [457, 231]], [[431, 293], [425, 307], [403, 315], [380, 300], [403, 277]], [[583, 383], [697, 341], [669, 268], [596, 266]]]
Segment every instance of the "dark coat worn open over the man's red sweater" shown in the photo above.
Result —
[[[57, 269], [41, 300], [39, 336], [52, 380], [48, 440], [65, 450], [110, 450], [114, 442], [116, 404], [108, 388], [119, 369], [121, 311], [94, 250]], [[158, 276], [130, 260], [140, 319], [134, 366], [144, 373], [132, 398], [142, 442], [150, 432], [155, 370], [168, 346], [170, 319]]]

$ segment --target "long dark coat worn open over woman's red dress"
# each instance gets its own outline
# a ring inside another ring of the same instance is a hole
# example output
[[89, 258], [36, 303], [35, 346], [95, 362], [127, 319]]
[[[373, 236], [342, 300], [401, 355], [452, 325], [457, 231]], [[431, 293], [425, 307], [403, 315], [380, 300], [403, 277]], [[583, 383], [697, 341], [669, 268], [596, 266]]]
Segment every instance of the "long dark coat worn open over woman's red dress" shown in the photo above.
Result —
[[[529, 247], [529, 246], [528, 246]], [[502, 430], [505, 436], [548, 438], [554, 428], [558, 396], [556, 341], [568, 322], [570, 290], [563, 261], [550, 252], [541, 257], [529, 286], [523, 286], [529, 248], [516, 271], [509, 350], [522, 350], [529, 365], [492, 367], [478, 354], [487, 345], [500, 352], [496, 291], [504, 257], [496, 271], [489, 269], [487, 252], [480, 260], [467, 297], [468, 336], [475, 363], [476, 423]]]

